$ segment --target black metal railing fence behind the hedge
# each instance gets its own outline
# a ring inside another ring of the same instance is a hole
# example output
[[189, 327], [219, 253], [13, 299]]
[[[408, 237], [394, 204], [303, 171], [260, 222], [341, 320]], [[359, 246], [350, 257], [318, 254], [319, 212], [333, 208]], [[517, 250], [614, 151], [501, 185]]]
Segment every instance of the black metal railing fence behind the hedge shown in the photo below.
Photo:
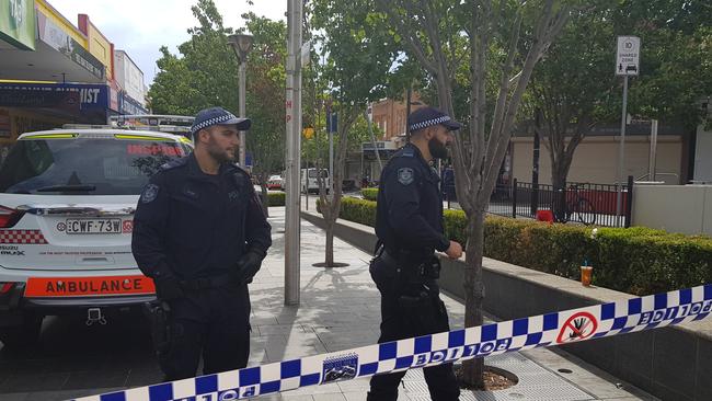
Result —
[[507, 217], [553, 218], [559, 222], [630, 227], [633, 176], [621, 187], [620, 215], [617, 215], [618, 186], [566, 183], [565, 188], [547, 184], [514, 182], [497, 185], [490, 197], [490, 213]]

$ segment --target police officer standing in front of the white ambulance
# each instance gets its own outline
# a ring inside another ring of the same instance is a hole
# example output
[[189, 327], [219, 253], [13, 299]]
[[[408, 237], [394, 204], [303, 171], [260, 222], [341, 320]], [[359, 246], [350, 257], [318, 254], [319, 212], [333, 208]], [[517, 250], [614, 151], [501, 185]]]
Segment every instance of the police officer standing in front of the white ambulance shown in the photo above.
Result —
[[248, 283], [272, 245], [250, 176], [233, 164], [250, 119], [211, 107], [191, 127], [194, 151], [151, 176], [134, 216], [131, 250], [170, 309], [158, 350], [165, 380], [246, 366]]

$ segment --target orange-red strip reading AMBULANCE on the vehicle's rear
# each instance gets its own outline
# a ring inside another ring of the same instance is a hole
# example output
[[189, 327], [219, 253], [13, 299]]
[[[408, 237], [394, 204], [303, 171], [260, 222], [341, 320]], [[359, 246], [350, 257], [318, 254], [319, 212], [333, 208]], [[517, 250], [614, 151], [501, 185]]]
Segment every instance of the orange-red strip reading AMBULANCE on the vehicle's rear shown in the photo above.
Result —
[[146, 276], [30, 277], [25, 297], [91, 297], [153, 294], [153, 280]]

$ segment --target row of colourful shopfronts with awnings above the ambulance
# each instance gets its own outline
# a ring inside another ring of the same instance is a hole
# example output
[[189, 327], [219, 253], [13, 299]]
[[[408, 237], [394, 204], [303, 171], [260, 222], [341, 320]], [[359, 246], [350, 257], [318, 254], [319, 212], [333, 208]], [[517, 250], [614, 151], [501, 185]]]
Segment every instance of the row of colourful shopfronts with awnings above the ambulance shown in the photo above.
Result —
[[114, 45], [87, 14], [76, 26], [47, 0], [16, 3], [0, 8], [0, 161], [26, 131], [146, 113], [142, 73], [127, 68], [137, 100], [124, 99]]

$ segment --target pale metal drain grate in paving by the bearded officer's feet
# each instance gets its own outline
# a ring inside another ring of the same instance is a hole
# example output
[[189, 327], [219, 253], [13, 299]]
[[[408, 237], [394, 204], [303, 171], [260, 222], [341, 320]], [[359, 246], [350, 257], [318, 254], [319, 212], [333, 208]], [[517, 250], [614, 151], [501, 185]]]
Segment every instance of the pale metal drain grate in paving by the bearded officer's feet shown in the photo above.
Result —
[[[461, 401], [585, 401], [594, 397], [578, 387], [544, 369], [519, 353], [491, 356], [486, 364], [515, 374], [519, 382], [506, 390], [462, 390]], [[404, 377], [405, 390], [401, 394], [414, 401], [429, 400], [423, 369], [409, 370]]]

